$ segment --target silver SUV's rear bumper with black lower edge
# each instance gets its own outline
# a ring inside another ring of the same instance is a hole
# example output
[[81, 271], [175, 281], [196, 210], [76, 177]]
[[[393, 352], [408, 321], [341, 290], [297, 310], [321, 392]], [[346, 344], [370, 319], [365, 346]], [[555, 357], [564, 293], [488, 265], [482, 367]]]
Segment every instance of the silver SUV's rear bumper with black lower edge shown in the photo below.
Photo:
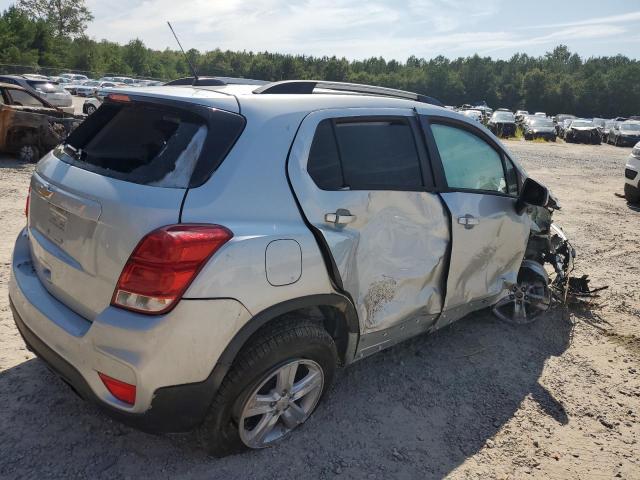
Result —
[[[93, 322], [45, 289], [33, 270], [23, 231], [13, 256], [9, 299], [27, 345], [80, 396], [146, 431], [197, 425], [215, 394], [213, 369], [249, 312], [235, 300], [182, 300], [166, 315], [107, 307]], [[128, 405], [98, 372], [136, 385]]]

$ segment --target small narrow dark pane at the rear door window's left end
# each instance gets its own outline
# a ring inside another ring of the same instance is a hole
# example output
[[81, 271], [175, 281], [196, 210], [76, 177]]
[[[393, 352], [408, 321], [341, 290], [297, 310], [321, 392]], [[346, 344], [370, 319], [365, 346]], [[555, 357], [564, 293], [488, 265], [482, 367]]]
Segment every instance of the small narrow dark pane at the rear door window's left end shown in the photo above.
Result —
[[338, 146], [333, 135], [332, 121], [329, 119], [318, 124], [309, 151], [307, 171], [323, 190], [339, 190], [344, 187]]

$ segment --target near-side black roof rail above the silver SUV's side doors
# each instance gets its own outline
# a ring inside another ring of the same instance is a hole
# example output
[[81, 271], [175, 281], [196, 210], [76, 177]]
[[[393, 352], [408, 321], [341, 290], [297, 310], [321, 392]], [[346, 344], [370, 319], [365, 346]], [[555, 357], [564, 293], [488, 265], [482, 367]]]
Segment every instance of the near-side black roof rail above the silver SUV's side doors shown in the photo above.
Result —
[[337, 90], [340, 92], [362, 93], [365, 95], [379, 95], [383, 97], [403, 98], [416, 102], [430, 103], [438, 107], [444, 104], [435, 98], [420, 93], [396, 90], [394, 88], [378, 87], [375, 85], [363, 85], [359, 83], [330, 82], [325, 80], [283, 80], [272, 82], [256, 88], [253, 93], [259, 94], [311, 94], [316, 88]]

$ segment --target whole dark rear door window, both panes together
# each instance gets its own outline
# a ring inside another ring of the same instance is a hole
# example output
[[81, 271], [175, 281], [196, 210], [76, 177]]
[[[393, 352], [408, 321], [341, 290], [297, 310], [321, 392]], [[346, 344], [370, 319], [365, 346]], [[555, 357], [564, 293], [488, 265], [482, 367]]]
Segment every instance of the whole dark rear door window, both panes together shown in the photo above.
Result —
[[324, 190], [415, 190], [423, 186], [413, 129], [404, 117], [327, 119], [307, 170]]

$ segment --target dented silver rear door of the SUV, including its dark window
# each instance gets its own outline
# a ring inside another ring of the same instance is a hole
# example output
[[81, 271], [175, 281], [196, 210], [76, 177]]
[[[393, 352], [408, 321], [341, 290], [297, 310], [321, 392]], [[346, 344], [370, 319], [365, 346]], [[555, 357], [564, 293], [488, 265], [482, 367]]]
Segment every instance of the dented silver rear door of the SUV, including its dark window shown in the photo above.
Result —
[[[426, 330], [442, 309], [448, 220], [410, 109], [315, 112], [288, 172], [363, 333]], [[407, 322], [411, 328], [405, 329]], [[392, 336], [392, 335], [389, 335]], [[397, 337], [397, 336], [396, 336]], [[372, 348], [385, 343], [382, 336]], [[377, 344], [377, 345], [376, 345]]]

